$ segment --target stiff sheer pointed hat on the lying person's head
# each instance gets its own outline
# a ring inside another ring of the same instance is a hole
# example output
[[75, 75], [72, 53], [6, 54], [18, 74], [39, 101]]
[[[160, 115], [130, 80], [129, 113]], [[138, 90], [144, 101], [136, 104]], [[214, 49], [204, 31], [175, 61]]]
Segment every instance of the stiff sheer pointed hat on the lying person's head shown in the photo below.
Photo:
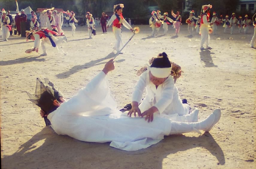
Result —
[[60, 97], [63, 97], [63, 95], [49, 79], [45, 78], [44, 80], [45, 83], [37, 78], [35, 94], [26, 93], [31, 102], [49, 114], [51, 111], [54, 111], [53, 101], [58, 100], [61, 102]]

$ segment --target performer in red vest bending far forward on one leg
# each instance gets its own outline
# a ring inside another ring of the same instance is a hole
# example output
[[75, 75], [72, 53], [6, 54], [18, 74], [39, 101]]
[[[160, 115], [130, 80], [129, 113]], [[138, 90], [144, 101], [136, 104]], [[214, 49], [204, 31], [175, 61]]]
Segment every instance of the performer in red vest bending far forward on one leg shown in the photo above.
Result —
[[41, 54], [41, 56], [46, 56], [47, 52], [46, 52], [46, 44], [49, 44], [53, 47], [57, 47], [58, 51], [63, 52], [63, 50], [61, 49], [61, 43], [63, 41], [67, 41], [66, 36], [60, 37], [60, 38], [56, 38], [53, 35], [58, 35], [57, 32], [51, 31], [51, 30], [39, 30], [36, 32], [30, 32], [27, 31], [26, 32], [26, 41], [28, 40], [32, 40], [34, 41], [34, 48], [32, 49], [32, 51], [39, 51], [40, 46], [42, 46], [43, 49], [43, 54]]

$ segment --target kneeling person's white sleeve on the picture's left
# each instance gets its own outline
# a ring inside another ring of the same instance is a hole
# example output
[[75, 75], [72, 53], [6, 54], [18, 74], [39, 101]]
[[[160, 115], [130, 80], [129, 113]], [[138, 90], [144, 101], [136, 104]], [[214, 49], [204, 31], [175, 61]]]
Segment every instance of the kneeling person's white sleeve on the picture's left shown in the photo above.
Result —
[[140, 75], [140, 79], [137, 82], [136, 86], [134, 87], [134, 91], [132, 92], [132, 97], [131, 97], [131, 100], [133, 102], [140, 103], [140, 100], [142, 98], [142, 94], [143, 94], [144, 89], [146, 87], [147, 73], [148, 73], [148, 71], [145, 71]]

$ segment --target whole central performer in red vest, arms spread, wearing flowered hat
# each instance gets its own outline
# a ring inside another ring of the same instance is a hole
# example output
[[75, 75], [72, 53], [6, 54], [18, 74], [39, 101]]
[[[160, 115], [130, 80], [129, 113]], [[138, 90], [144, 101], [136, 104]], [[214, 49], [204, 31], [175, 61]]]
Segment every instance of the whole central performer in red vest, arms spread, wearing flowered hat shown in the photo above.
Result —
[[110, 20], [107, 23], [107, 28], [109, 28], [109, 26], [113, 23], [113, 33], [116, 37], [116, 44], [113, 49], [116, 50], [119, 54], [122, 54], [120, 50], [123, 46], [121, 24], [124, 25], [127, 29], [133, 31], [131, 25], [129, 25], [128, 22], [125, 21], [122, 15], [123, 7], [124, 4], [114, 5], [114, 14], [111, 16]]

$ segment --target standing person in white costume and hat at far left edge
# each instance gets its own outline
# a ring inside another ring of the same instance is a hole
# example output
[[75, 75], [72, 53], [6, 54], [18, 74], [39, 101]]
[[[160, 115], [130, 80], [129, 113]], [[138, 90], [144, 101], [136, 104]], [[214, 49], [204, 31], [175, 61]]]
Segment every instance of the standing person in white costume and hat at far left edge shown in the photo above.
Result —
[[10, 18], [6, 16], [6, 11], [2, 10], [2, 16], [0, 18], [0, 24], [2, 28], [2, 38], [4, 41], [8, 41], [8, 38], [10, 36], [10, 29], [8, 27], [8, 24], [10, 23]]

